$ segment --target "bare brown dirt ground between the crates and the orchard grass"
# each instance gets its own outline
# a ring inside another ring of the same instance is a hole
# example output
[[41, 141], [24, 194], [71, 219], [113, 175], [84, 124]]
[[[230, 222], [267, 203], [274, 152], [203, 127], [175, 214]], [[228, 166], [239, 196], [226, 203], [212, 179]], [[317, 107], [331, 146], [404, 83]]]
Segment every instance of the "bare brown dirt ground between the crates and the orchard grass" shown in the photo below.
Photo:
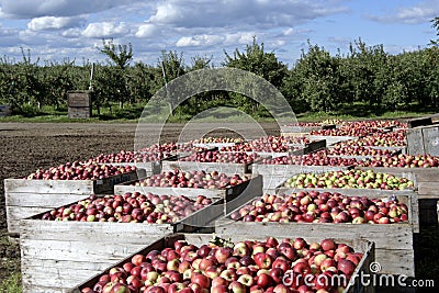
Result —
[[[266, 134], [279, 134], [275, 124], [262, 124]], [[252, 124], [104, 124], [0, 123], [0, 283], [20, 270], [20, 249], [7, 241], [3, 179], [24, 177], [37, 168], [83, 160], [99, 154], [133, 150], [135, 136], [145, 145], [194, 139], [204, 134], [254, 138], [261, 128]], [[161, 134], [161, 136], [160, 136]]]

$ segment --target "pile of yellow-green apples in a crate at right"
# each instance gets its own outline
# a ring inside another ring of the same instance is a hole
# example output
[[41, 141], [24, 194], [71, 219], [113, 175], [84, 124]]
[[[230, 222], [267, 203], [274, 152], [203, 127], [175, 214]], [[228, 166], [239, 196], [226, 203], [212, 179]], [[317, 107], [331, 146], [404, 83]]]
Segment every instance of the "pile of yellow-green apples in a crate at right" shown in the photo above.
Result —
[[351, 188], [404, 190], [414, 187], [412, 180], [372, 170], [329, 171], [326, 173], [295, 174], [284, 183], [285, 188]]

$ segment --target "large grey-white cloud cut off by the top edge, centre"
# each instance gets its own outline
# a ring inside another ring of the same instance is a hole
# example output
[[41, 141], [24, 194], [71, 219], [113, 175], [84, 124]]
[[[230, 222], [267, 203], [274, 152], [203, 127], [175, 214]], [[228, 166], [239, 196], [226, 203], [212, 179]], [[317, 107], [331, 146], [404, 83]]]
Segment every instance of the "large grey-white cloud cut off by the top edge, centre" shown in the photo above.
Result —
[[180, 27], [296, 25], [348, 10], [337, 3], [323, 0], [160, 1], [148, 21]]

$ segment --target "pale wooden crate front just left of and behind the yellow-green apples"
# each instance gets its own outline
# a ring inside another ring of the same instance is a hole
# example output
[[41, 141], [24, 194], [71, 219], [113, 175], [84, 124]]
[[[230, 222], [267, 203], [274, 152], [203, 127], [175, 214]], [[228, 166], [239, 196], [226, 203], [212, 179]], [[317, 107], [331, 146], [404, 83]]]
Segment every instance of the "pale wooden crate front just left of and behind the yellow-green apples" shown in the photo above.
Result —
[[261, 174], [263, 180], [263, 192], [275, 192], [275, 189], [284, 182], [286, 179], [294, 174], [306, 173], [306, 172], [327, 172], [337, 170], [351, 169], [351, 166], [347, 167], [333, 167], [333, 166], [302, 166], [302, 165], [267, 165], [267, 164], [254, 164], [251, 172], [254, 176]]

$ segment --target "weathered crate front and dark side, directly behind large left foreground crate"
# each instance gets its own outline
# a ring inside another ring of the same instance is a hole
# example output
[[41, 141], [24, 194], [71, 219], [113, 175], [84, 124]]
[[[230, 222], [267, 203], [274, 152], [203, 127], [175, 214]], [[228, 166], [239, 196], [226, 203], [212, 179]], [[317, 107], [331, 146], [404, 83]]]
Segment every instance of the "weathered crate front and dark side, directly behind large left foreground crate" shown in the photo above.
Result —
[[262, 177], [254, 176], [249, 181], [243, 182], [227, 189], [193, 189], [193, 188], [154, 188], [133, 185], [136, 181], [117, 184], [114, 187], [114, 193], [124, 194], [126, 192], [151, 192], [155, 194], [173, 194], [196, 196], [199, 194], [207, 198], [224, 199], [223, 215], [235, 210], [247, 201], [262, 195]]

